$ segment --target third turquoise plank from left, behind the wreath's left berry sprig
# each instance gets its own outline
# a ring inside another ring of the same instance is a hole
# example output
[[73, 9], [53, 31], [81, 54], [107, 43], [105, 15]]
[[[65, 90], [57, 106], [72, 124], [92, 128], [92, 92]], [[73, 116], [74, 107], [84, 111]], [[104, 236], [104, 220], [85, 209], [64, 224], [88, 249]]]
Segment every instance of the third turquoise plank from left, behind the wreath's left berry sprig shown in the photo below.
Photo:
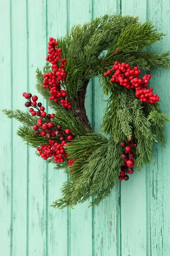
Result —
[[[46, 57], [46, 3], [29, 0], [28, 12], [28, 89], [37, 94], [35, 70], [42, 68]], [[46, 104], [39, 96], [40, 102]], [[27, 255], [48, 255], [46, 241], [46, 163], [29, 148], [28, 162], [28, 248]]]

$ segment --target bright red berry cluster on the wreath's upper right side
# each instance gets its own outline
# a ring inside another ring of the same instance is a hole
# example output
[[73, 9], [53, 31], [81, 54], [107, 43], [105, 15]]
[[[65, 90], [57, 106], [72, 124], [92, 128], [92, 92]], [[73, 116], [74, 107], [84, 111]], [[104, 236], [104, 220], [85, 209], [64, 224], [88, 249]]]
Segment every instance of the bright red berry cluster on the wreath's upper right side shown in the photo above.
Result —
[[[119, 63], [115, 61], [112, 70], [114, 74], [112, 75], [111, 82], [119, 83], [120, 85], [126, 87], [127, 89], [136, 88], [136, 97], [140, 98], [141, 102], [147, 102], [154, 104], [159, 101], [159, 96], [153, 94], [153, 88], [148, 88], [148, 82], [151, 78], [151, 75], [144, 75], [142, 79], [139, 78], [141, 70], [138, 67], [131, 69], [129, 64]], [[111, 75], [112, 71], [108, 70], [104, 73], [104, 76]]]

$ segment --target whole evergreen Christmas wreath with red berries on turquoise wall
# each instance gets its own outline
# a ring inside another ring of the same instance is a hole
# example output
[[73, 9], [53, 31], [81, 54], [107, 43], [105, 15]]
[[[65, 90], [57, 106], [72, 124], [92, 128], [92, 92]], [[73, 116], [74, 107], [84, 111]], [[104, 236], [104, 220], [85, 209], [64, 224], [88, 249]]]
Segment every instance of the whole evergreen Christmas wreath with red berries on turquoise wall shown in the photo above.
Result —
[[[36, 71], [36, 87], [54, 113], [46, 113], [38, 97], [25, 92], [30, 113], [3, 111], [23, 123], [17, 134], [38, 155], [69, 173], [53, 207], [73, 207], [89, 198], [91, 206], [98, 205], [117, 179], [128, 180], [133, 166], [141, 170], [153, 160], [153, 142], [165, 144], [168, 116], [148, 87], [148, 70], [169, 67], [170, 52], [146, 49], [163, 36], [150, 21], [104, 15], [74, 26], [65, 38], [49, 38], [47, 63], [43, 72]], [[85, 111], [86, 89], [96, 76], [109, 96], [100, 127], [109, 138], [92, 130]]]

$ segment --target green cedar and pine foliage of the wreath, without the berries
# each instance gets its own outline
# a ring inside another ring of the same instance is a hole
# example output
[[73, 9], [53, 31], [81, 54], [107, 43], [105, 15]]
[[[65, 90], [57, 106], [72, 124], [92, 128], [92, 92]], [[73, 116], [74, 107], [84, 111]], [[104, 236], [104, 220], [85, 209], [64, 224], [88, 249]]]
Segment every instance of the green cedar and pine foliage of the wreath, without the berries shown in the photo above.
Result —
[[[37, 69], [36, 88], [55, 111], [54, 125], [69, 127], [76, 134], [76, 139], [67, 145], [69, 158], [77, 159], [76, 162], [68, 166], [65, 161], [56, 167], [67, 166], [69, 179], [62, 186], [62, 198], [54, 201], [53, 207], [74, 207], [91, 197], [94, 200], [90, 205], [98, 205], [110, 195], [122, 163], [120, 143], [123, 139], [127, 141], [131, 136], [136, 138], [136, 167], [139, 170], [143, 164], [153, 160], [154, 141], [165, 145], [164, 123], [169, 118], [160, 110], [159, 104], [140, 102], [134, 90], [111, 83], [108, 77], [103, 77], [114, 61], [147, 71], [154, 67], [169, 67], [169, 51], [159, 55], [146, 49], [163, 36], [151, 21], [141, 24], [137, 17], [104, 15], [83, 26], [74, 26], [64, 38], [58, 38], [58, 47], [62, 48], [62, 56], [67, 59], [64, 86], [73, 106], [71, 110], [65, 110], [58, 102], [49, 100], [49, 91], [42, 86], [42, 74], [51, 70], [50, 65], [46, 64], [43, 72]], [[109, 139], [95, 134], [77, 117], [79, 92], [86, 90], [88, 81], [96, 76], [100, 78], [103, 92], [110, 95], [100, 128], [102, 134], [110, 136]], [[47, 138], [34, 136], [31, 126], [35, 124], [36, 117], [20, 110], [4, 110], [4, 113], [23, 123], [17, 134], [28, 145], [38, 147], [48, 143]], [[57, 141], [57, 137], [54, 140]], [[47, 162], [54, 163], [54, 160]]]

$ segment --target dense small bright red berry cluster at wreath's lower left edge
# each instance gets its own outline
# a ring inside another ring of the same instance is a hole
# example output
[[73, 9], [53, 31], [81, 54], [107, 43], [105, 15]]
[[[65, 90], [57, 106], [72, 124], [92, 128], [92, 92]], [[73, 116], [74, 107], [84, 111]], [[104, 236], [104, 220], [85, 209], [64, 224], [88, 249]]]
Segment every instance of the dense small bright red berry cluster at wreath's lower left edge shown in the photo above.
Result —
[[63, 140], [61, 144], [54, 142], [54, 140], [49, 140], [49, 144], [42, 145], [40, 148], [37, 148], [39, 155], [44, 159], [53, 157], [55, 163], [63, 163], [67, 154], [65, 153], [64, 147], [66, 146], [65, 141]]

